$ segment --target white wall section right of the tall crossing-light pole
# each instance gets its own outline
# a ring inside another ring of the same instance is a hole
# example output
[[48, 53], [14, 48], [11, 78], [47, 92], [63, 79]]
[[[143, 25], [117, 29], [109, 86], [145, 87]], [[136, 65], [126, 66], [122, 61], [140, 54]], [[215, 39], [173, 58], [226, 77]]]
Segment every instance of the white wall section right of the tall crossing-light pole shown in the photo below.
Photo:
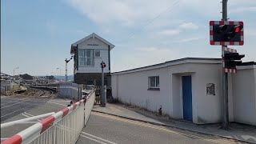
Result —
[[233, 75], [234, 121], [256, 126], [256, 67]]

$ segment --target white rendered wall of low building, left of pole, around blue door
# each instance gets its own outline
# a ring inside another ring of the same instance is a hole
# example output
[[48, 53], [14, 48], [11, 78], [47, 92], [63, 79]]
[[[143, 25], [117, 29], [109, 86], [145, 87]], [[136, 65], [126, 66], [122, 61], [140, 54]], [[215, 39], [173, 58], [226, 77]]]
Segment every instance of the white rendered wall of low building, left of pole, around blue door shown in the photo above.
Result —
[[[121, 102], [158, 111], [172, 118], [183, 118], [182, 76], [192, 76], [193, 122], [221, 120], [221, 64], [186, 63], [128, 74], [112, 74], [112, 94]], [[160, 90], [147, 90], [148, 77], [158, 76]], [[215, 84], [215, 95], [206, 94], [206, 83]]]

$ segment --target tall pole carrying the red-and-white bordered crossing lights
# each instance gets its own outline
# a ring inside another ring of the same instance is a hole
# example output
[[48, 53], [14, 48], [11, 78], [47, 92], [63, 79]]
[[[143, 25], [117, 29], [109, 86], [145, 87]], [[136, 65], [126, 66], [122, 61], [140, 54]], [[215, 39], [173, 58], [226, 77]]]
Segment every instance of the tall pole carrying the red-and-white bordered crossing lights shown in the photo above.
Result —
[[[227, 0], [222, 0], [222, 21], [227, 21]], [[224, 57], [224, 56], [222, 56]], [[222, 61], [222, 65], [225, 62]], [[229, 129], [228, 73], [222, 72], [223, 129]]]

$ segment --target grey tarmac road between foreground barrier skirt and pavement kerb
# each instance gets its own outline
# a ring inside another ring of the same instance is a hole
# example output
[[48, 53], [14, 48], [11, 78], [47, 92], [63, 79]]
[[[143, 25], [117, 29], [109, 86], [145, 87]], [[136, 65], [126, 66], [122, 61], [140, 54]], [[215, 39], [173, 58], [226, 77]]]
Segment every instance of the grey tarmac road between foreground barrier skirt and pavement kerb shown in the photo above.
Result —
[[77, 144], [236, 143], [234, 141], [154, 126], [145, 122], [92, 112]]

